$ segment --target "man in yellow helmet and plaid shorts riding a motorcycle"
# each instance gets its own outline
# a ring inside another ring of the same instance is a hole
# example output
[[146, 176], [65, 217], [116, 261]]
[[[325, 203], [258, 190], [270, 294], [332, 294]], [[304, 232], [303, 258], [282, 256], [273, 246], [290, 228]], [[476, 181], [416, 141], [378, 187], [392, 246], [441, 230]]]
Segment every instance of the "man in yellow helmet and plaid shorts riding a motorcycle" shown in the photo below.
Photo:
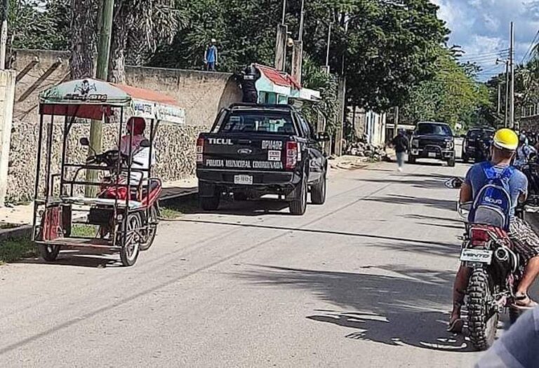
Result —
[[[514, 157], [519, 146], [519, 137], [510, 129], [500, 129], [495, 133], [491, 147], [491, 167], [496, 172], [503, 172]], [[467, 172], [465, 182], [460, 189], [460, 203], [469, 203], [475, 199], [481, 188], [487, 184], [486, 174], [481, 163], [475, 164]], [[519, 170], [514, 170], [509, 178], [511, 196], [510, 239], [515, 250], [520, 254], [526, 264], [524, 277], [517, 287], [514, 298], [514, 308], [533, 308], [538, 304], [528, 296], [528, 289], [539, 275], [539, 237], [531, 226], [524, 220], [516, 217], [514, 212], [519, 203], [524, 203], [528, 196], [528, 179]], [[470, 278], [470, 268], [460, 265], [453, 286], [453, 311], [449, 320], [449, 332], [461, 332], [463, 320], [460, 318], [460, 309], [463, 306], [465, 290]]]

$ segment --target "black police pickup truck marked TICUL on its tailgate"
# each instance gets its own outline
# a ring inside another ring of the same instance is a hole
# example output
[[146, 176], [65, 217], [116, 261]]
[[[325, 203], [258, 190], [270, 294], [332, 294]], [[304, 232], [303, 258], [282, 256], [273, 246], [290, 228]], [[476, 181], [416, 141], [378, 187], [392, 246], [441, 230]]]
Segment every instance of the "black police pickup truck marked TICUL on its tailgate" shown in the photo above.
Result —
[[223, 193], [234, 200], [278, 194], [292, 214], [304, 214], [307, 192], [326, 200], [328, 163], [300, 112], [288, 105], [232, 104], [197, 140], [197, 177], [203, 210], [216, 210]]

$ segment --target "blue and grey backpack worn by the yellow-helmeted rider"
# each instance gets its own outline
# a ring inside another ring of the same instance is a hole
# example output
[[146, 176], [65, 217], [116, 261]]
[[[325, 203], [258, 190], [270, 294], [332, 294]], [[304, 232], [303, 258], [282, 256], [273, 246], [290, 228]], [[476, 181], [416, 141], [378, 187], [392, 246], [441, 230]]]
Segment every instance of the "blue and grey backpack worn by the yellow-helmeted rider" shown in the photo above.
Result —
[[507, 166], [499, 172], [488, 162], [481, 163], [481, 169], [485, 173], [486, 184], [477, 193], [468, 222], [492, 225], [509, 231], [512, 207], [509, 180], [516, 169]]

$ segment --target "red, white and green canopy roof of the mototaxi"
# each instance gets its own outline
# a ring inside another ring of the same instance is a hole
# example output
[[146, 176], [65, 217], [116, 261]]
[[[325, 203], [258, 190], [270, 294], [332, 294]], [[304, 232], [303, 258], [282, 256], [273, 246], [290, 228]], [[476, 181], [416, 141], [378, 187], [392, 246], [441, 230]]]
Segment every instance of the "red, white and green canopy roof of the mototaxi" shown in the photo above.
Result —
[[185, 123], [185, 110], [172, 97], [153, 90], [97, 79], [78, 79], [60, 83], [39, 94], [39, 111], [44, 115], [101, 120], [111, 116], [114, 107], [127, 109], [130, 116]]

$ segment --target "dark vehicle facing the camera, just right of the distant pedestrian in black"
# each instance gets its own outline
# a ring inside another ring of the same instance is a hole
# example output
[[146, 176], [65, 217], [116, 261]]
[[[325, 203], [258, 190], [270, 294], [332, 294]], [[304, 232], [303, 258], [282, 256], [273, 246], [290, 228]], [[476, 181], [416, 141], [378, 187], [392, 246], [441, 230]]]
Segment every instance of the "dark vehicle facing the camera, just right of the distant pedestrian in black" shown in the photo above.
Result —
[[455, 166], [455, 139], [449, 125], [432, 121], [420, 122], [412, 135], [408, 162], [418, 158], [435, 158]]

